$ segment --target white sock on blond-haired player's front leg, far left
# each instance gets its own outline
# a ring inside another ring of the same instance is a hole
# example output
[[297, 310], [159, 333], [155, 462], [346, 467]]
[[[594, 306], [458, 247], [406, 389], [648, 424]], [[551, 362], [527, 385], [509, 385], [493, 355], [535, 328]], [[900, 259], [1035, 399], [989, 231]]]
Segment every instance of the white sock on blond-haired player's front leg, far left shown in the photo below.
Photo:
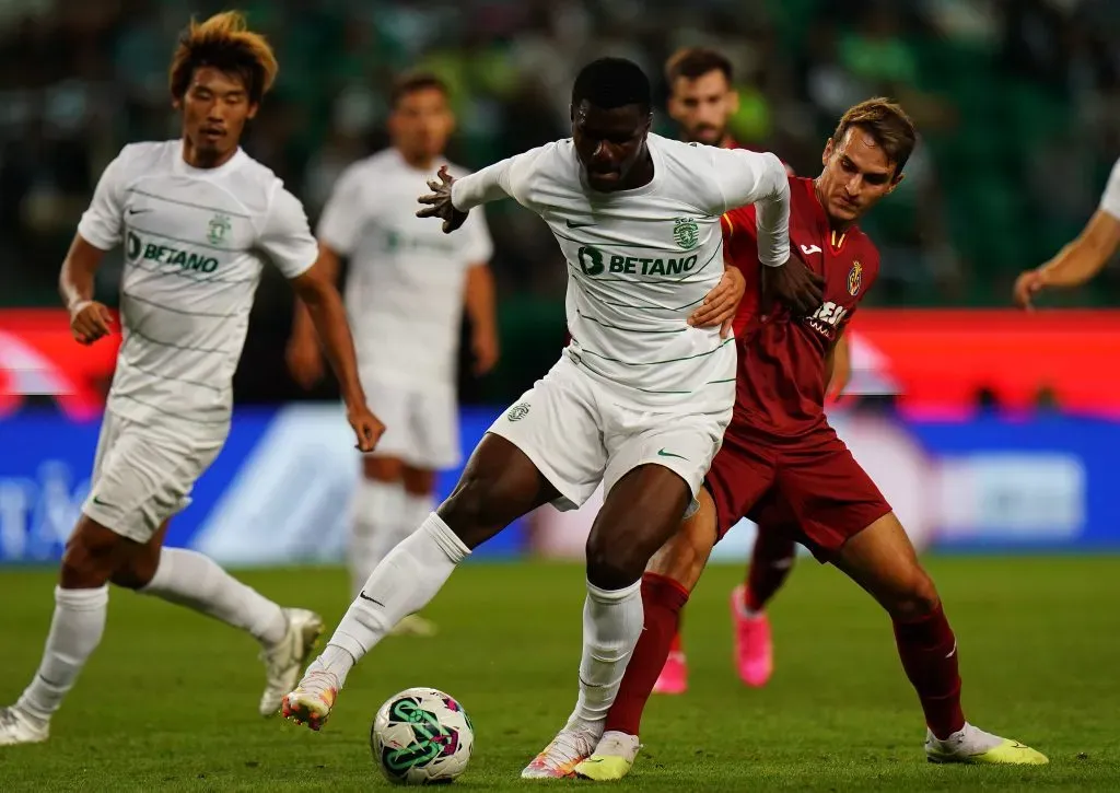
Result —
[[43, 661], [16, 707], [32, 719], [49, 721], [105, 632], [109, 587], [55, 588], [55, 616]]

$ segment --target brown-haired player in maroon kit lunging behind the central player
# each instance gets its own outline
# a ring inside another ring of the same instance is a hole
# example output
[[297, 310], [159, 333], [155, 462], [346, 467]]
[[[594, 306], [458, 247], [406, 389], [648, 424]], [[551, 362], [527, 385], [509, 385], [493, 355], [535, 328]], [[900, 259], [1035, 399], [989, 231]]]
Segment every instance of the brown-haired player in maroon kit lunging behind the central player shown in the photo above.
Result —
[[[915, 132], [900, 108], [875, 99], [851, 108], [824, 148], [816, 179], [790, 178], [790, 239], [824, 277], [810, 317], [763, 306], [748, 290], [739, 307], [735, 414], [699, 501], [700, 511], [651, 560], [643, 578], [645, 624], [595, 753], [575, 774], [626, 775], [638, 749], [642, 711], [669, 654], [681, 607], [717, 540], [745, 516], [764, 537], [805, 544], [868, 591], [890, 615], [903, 669], [926, 720], [926, 756], [937, 763], [1043, 764], [1018, 741], [968, 724], [961, 709], [956, 640], [933, 581], [879, 489], [824, 416], [832, 352], [879, 254], [855, 225], [902, 180]], [[757, 261], [752, 207], [729, 212], [728, 260], [748, 283]]]

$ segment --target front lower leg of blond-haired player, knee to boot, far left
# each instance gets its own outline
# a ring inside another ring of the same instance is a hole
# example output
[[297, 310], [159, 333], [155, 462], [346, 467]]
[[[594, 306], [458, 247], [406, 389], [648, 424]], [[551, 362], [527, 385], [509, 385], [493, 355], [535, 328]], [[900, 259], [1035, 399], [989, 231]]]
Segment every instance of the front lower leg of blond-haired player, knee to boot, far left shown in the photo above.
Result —
[[101, 643], [109, 579], [131, 542], [83, 515], [66, 543], [43, 660], [16, 705], [0, 708], [0, 746], [47, 739], [50, 718]]

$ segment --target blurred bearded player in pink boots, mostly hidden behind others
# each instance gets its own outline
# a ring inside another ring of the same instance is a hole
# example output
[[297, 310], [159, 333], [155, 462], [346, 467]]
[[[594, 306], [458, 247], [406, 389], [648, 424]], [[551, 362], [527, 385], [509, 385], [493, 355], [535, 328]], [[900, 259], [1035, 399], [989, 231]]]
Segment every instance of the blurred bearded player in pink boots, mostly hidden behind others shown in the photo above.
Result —
[[[669, 114], [681, 125], [682, 138], [724, 149], [757, 150], [739, 143], [728, 131], [728, 121], [739, 109], [739, 95], [731, 80], [731, 62], [715, 50], [689, 47], [669, 58], [665, 64]], [[786, 170], [790, 176], [794, 175], [788, 166]], [[725, 222], [726, 251], [730, 251], [730, 230]], [[842, 336], [836, 345], [833, 361], [829, 389], [839, 394], [849, 374], [848, 344]], [[747, 685], [765, 685], [774, 670], [769, 619], [763, 609], [790, 575], [795, 559], [796, 545], [792, 538], [781, 532], [759, 531], [746, 581], [731, 593], [735, 665]], [[688, 664], [678, 631], [653, 690], [678, 694], [687, 689]]]

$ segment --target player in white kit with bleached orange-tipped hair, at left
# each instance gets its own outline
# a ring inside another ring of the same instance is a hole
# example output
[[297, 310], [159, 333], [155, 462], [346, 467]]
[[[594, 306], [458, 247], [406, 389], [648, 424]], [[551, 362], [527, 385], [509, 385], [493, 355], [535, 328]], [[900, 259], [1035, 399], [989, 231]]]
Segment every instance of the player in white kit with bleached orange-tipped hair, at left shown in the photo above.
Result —
[[[372, 450], [382, 430], [365, 407], [342, 298], [316, 263], [302, 206], [239, 147], [276, 72], [271, 48], [240, 15], [193, 21], [170, 71], [181, 139], [125, 146], [78, 224], [59, 277], [74, 336], [93, 344], [109, 333], [93, 281], [105, 251], [122, 245], [123, 343], [43, 661], [19, 701], [0, 709], [0, 745], [47, 738], [101, 641], [110, 582], [252, 634], [267, 668], [265, 716], [279, 710], [323, 629], [318, 615], [281, 608], [206, 557], [161, 548], [167, 520], [225, 442], [233, 373], [265, 261], [310, 307], [358, 446]], [[109, 697], [121, 706], [119, 691]]]

